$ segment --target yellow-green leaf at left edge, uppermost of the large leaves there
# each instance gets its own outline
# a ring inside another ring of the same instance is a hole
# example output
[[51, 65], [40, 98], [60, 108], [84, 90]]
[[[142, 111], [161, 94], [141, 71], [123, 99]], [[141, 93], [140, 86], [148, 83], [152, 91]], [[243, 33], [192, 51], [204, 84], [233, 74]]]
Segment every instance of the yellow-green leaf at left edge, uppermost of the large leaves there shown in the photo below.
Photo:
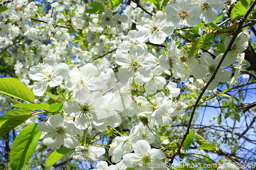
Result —
[[22, 82], [14, 78], [0, 79], [0, 92], [30, 103], [34, 103], [35, 100], [33, 92]]

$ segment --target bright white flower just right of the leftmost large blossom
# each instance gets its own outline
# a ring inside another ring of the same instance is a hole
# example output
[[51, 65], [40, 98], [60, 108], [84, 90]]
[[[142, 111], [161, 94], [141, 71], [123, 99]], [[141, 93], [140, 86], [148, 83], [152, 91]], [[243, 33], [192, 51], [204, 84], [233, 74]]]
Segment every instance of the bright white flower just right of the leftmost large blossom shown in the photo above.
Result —
[[81, 68], [73, 67], [69, 77], [65, 79], [65, 85], [69, 90], [73, 90], [73, 98], [79, 101], [86, 99], [90, 90], [97, 90], [101, 86], [101, 80], [95, 78], [98, 69], [89, 63]]

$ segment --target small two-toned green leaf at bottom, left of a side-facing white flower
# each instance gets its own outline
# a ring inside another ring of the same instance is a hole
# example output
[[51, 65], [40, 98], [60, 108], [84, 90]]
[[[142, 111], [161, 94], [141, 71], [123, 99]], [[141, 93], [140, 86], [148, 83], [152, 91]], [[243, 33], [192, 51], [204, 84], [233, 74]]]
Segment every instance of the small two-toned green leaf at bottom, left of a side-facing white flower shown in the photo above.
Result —
[[56, 151], [53, 151], [46, 162], [46, 167], [54, 165], [62, 156], [67, 154], [68, 152], [72, 151], [72, 149], [68, 148], [59, 148]]

